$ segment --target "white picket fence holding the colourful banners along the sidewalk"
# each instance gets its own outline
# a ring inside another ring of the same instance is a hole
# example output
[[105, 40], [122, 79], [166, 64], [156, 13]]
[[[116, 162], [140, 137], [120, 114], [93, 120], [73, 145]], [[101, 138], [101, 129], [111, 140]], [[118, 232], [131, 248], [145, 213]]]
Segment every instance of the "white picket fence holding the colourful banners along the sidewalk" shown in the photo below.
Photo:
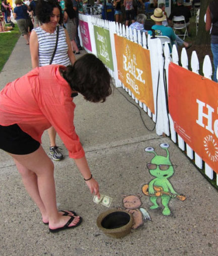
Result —
[[[112, 75], [112, 77], [115, 79], [116, 87], [123, 87], [123, 89], [129, 94], [130, 97], [132, 97], [135, 100], [135, 102], [143, 109], [143, 111], [145, 111], [147, 115], [150, 118], [152, 118], [153, 122], [156, 123], [155, 128], [156, 128], [156, 133], [158, 135], [162, 135], [163, 133], [165, 133], [166, 135], [170, 136], [175, 143], [178, 143], [179, 148], [182, 149], [184, 152], [186, 152], [187, 156], [191, 160], [194, 160], [195, 165], [199, 169], [203, 169], [203, 166], [204, 166], [204, 172], [206, 176], [209, 177], [209, 179], [212, 180], [213, 177], [215, 177], [216, 175], [216, 185], [218, 185], [218, 174], [216, 174], [206, 163], [204, 163], [203, 165], [203, 161], [197, 155], [197, 153], [195, 153], [192, 150], [192, 148], [180, 137], [180, 135], [176, 133], [176, 131], [174, 130], [174, 122], [167, 111], [168, 108], [167, 108], [167, 102], [166, 102], [166, 88], [168, 91], [168, 67], [170, 62], [173, 62], [179, 65], [179, 56], [178, 56], [176, 46], [173, 45], [172, 54], [170, 54], [170, 49], [168, 44], [166, 43], [163, 49], [160, 39], [158, 38], [151, 39], [149, 35], [146, 38], [145, 33], [141, 35], [139, 31], [137, 32], [136, 30], [134, 30], [134, 32], [132, 32], [131, 29], [129, 29], [128, 27], [125, 27], [124, 25], [122, 26], [121, 24], [118, 24], [115, 22], [108, 22], [102, 19], [95, 18], [94, 16], [80, 15], [80, 19], [88, 22], [91, 45], [92, 45], [92, 53], [94, 55], [97, 55], [97, 53], [96, 53], [93, 26], [94, 25], [99, 26], [110, 31], [114, 71], [110, 69], [108, 70]], [[121, 81], [118, 79], [117, 57], [116, 57], [114, 34], [123, 36], [129, 39], [130, 41], [133, 41], [135, 43], [142, 45], [143, 48], [149, 49], [155, 114], [152, 114], [149, 108], [145, 104], [141, 103], [132, 94], [132, 92], [127, 87], [125, 87], [124, 84], [122, 84]], [[182, 64], [183, 68], [188, 69], [189, 63], [188, 63], [188, 56], [185, 48], [182, 49], [180, 63]], [[190, 66], [191, 66], [192, 72], [199, 74], [199, 61], [195, 51], [192, 52]], [[163, 69], [165, 69], [166, 71], [167, 79], [165, 79]], [[208, 79], [211, 79], [212, 77], [212, 65], [208, 55], [206, 55], [204, 58], [203, 75]]]

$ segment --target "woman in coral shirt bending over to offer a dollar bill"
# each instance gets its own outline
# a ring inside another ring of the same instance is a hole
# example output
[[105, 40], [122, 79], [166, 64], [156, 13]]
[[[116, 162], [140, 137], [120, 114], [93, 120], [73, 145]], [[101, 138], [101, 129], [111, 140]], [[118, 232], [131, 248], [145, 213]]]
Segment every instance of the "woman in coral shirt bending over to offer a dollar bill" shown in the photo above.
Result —
[[[98, 182], [91, 174], [75, 132], [76, 105], [72, 92], [81, 93], [93, 103], [104, 102], [112, 93], [111, 76], [94, 55], [84, 55], [73, 66], [36, 68], [8, 83], [0, 92], [0, 148], [13, 158], [50, 232], [75, 228], [82, 222], [75, 212], [57, 209], [54, 165], [40, 145], [43, 131], [51, 124], [59, 132], [90, 192], [100, 198]], [[73, 182], [73, 174], [68, 178]]]

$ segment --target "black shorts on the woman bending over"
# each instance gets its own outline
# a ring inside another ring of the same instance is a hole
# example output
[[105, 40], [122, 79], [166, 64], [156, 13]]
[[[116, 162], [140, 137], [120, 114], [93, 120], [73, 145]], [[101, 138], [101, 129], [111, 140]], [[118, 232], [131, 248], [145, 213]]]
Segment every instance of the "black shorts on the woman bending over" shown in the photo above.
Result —
[[0, 148], [15, 155], [27, 155], [36, 151], [40, 143], [22, 131], [17, 124], [0, 125]]

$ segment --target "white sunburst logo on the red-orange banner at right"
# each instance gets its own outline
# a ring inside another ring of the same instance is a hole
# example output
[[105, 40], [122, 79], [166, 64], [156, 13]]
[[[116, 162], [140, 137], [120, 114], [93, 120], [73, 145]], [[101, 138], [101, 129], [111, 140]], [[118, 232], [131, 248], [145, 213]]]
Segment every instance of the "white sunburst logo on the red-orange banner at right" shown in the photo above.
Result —
[[207, 135], [204, 140], [204, 149], [212, 162], [218, 160], [218, 147], [212, 135]]

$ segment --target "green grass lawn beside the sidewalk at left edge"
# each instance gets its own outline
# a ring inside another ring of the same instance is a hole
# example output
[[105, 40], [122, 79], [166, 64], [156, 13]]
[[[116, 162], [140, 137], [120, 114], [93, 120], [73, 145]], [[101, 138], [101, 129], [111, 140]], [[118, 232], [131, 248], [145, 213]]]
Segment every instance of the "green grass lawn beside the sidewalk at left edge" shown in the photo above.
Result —
[[1, 33], [0, 34], [0, 49], [1, 49], [1, 58], [0, 58], [0, 72], [2, 71], [4, 65], [8, 61], [12, 50], [14, 49], [14, 46], [17, 42], [17, 40], [20, 37], [20, 32], [18, 30], [17, 24], [15, 24], [15, 27], [13, 30], [7, 33]]

